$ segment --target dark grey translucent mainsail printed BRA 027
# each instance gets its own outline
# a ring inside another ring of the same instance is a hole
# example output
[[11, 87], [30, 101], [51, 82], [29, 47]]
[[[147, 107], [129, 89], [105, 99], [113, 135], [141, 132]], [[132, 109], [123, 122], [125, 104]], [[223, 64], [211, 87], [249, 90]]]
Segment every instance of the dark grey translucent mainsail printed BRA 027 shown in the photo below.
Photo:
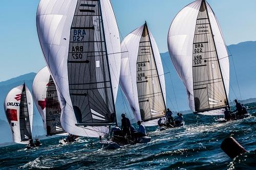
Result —
[[100, 1], [77, 1], [72, 22], [68, 77], [78, 124], [114, 122], [115, 105]]

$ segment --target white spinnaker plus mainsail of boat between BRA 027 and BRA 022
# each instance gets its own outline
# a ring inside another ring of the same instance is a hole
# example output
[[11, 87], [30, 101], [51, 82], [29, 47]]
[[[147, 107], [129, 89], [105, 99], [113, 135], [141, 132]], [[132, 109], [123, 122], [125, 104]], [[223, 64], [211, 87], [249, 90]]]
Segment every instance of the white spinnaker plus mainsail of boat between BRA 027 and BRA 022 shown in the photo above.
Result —
[[120, 84], [137, 120], [145, 126], [157, 125], [164, 116], [165, 82], [162, 61], [154, 37], [143, 25], [122, 43]]

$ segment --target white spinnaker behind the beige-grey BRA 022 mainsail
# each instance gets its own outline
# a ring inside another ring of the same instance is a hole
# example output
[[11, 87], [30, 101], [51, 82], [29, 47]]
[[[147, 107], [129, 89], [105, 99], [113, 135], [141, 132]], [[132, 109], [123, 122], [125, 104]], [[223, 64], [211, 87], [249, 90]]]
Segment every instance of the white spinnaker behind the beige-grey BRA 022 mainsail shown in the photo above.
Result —
[[[168, 34], [168, 48], [170, 57], [175, 68], [183, 81], [189, 100], [189, 107], [195, 111], [194, 89], [193, 89], [193, 43], [196, 30], [197, 17], [199, 14], [202, 0], [195, 1], [183, 8], [175, 17], [170, 26]], [[212, 34], [219, 57], [221, 72], [226, 89], [229, 93], [229, 59], [226, 45], [219, 27], [217, 18], [206, 2]], [[215, 101], [214, 101], [215, 102]], [[205, 111], [205, 115], [223, 115], [223, 109]]]

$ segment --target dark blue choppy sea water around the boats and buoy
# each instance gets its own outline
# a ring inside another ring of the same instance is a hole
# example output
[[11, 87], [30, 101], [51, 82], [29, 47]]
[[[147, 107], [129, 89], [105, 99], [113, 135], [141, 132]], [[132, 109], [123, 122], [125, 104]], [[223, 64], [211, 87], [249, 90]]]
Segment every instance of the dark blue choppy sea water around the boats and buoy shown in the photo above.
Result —
[[[249, 108], [255, 104], [247, 105]], [[250, 113], [256, 116], [256, 109]], [[166, 131], [148, 129], [152, 141], [115, 151], [100, 149], [98, 139], [59, 145], [59, 138], [42, 140], [43, 146], [0, 148], [1, 169], [256, 169], [256, 117], [218, 124], [217, 117], [187, 114], [186, 126]], [[250, 151], [230, 159], [220, 148], [224, 138], [236, 138]]]

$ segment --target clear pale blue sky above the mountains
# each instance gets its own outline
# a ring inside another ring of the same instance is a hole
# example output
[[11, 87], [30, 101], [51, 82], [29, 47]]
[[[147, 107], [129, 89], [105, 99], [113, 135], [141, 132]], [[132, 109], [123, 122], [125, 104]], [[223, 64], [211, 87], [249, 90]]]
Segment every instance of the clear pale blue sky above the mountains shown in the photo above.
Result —
[[[167, 52], [167, 33], [176, 14], [193, 0], [112, 0], [121, 38], [145, 20], [161, 53]], [[227, 45], [256, 40], [255, 0], [208, 0]], [[1, 0], [0, 82], [44, 67], [36, 31], [39, 0]]]

